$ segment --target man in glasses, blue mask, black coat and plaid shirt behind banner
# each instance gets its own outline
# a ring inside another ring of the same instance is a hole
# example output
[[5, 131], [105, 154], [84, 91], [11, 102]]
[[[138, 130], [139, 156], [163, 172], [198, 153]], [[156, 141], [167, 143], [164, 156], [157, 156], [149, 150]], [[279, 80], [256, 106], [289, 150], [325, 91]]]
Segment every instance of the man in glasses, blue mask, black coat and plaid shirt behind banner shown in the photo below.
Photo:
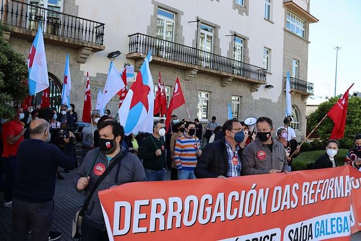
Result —
[[203, 149], [194, 174], [197, 178], [221, 178], [241, 176], [241, 153], [239, 143], [244, 139], [242, 125], [238, 120], [228, 120], [222, 126], [224, 137], [208, 143]]

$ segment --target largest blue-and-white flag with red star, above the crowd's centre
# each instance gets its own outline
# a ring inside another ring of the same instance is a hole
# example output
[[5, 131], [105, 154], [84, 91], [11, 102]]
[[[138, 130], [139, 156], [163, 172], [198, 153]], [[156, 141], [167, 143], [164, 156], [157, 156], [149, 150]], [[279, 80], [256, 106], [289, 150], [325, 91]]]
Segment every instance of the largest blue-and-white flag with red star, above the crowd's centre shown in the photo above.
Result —
[[138, 131], [153, 133], [154, 84], [149, 70], [151, 54], [152, 50], [144, 59], [118, 111], [125, 135]]

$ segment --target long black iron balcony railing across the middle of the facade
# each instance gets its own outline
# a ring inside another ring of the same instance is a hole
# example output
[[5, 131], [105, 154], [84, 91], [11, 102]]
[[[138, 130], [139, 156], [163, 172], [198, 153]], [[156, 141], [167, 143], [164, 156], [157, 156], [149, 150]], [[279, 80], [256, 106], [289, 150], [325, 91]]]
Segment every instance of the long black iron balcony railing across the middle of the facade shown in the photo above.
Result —
[[147, 54], [151, 49], [156, 57], [266, 82], [266, 70], [261, 67], [140, 33], [129, 35], [129, 54]]

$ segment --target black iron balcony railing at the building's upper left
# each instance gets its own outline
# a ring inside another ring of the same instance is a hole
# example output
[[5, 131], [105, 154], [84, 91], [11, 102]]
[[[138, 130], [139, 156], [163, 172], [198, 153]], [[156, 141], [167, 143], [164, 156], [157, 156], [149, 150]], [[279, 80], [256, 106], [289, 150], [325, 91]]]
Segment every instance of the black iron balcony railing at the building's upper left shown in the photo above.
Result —
[[1, 0], [1, 21], [7, 25], [102, 45], [104, 23], [64, 14], [18, 0]]

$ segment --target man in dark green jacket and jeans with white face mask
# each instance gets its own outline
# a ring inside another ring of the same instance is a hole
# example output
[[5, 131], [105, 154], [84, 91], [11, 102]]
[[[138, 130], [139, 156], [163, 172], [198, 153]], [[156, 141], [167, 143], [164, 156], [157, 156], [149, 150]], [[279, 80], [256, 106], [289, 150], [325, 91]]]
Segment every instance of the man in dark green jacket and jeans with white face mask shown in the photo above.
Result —
[[164, 181], [165, 174], [164, 124], [154, 122], [153, 135], [143, 140], [138, 157], [143, 160], [148, 181]]

